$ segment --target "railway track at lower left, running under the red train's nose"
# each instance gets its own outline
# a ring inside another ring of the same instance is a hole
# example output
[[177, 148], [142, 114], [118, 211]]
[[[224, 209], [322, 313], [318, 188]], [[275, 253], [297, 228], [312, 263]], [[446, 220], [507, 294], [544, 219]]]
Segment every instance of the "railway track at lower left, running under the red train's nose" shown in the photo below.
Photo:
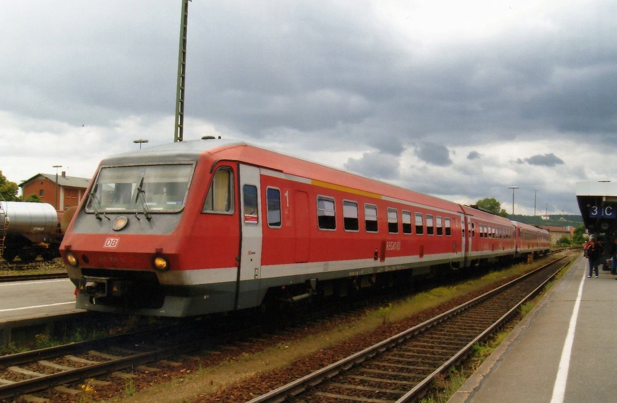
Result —
[[[64, 385], [109, 373], [130, 377], [133, 372], [157, 372], [162, 367], [178, 365], [166, 359], [211, 346], [209, 338], [204, 334], [202, 336], [196, 337], [194, 330], [170, 325], [4, 355], [0, 357], [0, 401], [13, 401], [17, 396], [54, 387], [64, 393], [77, 393]], [[157, 367], [146, 365], [152, 362]], [[130, 368], [130, 372], [123, 373], [126, 368]]]

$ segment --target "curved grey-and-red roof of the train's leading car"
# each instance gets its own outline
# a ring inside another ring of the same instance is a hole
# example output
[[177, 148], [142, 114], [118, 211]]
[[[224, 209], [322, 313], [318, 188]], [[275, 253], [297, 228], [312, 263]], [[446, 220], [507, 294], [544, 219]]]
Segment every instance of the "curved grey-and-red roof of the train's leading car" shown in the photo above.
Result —
[[[275, 151], [268, 151], [244, 141], [232, 139], [200, 139], [147, 147], [141, 150], [125, 152], [102, 160], [101, 165], [139, 164], [141, 162], [183, 162], [196, 161], [204, 154], [209, 154], [216, 160], [235, 160], [257, 165], [270, 170], [309, 178], [337, 185], [338, 188], [360, 190], [365, 193], [378, 194], [394, 199], [410, 200], [418, 204], [433, 206], [439, 209], [463, 212], [462, 207], [455, 203], [439, 199], [439, 197], [417, 193], [399, 186], [390, 185], [378, 180], [361, 177], [355, 173], [328, 167], [297, 157], [287, 156]], [[486, 214], [474, 210], [474, 215]], [[487, 217], [491, 216], [486, 214]], [[492, 216], [495, 217], [495, 216]]]

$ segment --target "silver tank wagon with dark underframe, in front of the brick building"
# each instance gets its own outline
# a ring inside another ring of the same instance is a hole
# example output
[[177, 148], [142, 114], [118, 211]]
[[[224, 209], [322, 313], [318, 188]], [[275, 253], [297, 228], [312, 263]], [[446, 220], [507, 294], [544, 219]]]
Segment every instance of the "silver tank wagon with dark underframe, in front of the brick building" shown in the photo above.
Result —
[[48, 203], [0, 201], [0, 247], [2, 257], [16, 256], [30, 263], [39, 255], [49, 260], [60, 256], [62, 241], [58, 214]]

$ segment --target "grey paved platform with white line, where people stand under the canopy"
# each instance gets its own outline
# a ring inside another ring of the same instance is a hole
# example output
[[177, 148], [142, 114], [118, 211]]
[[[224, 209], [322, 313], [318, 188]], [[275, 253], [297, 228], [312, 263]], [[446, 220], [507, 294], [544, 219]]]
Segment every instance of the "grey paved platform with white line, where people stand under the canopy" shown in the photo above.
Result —
[[448, 403], [617, 402], [617, 281], [579, 257]]

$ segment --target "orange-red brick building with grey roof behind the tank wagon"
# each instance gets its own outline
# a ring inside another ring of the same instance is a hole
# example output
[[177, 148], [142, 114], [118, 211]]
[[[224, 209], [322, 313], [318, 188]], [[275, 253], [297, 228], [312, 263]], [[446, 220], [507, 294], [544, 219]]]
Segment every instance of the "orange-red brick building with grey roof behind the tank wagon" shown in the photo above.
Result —
[[57, 200], [54, 200], [56, 199], [55, 173], [37, 173], [20, 183], [19, 187], [22, 188], [24, 200], [34, 194], [41, 201], [56, 207], [56, 210], [64, 211], [79, 204], [89, 182], [89, 178], [67, 177], [67, 173], [62, 171], [62, 174], [58, 175]]

